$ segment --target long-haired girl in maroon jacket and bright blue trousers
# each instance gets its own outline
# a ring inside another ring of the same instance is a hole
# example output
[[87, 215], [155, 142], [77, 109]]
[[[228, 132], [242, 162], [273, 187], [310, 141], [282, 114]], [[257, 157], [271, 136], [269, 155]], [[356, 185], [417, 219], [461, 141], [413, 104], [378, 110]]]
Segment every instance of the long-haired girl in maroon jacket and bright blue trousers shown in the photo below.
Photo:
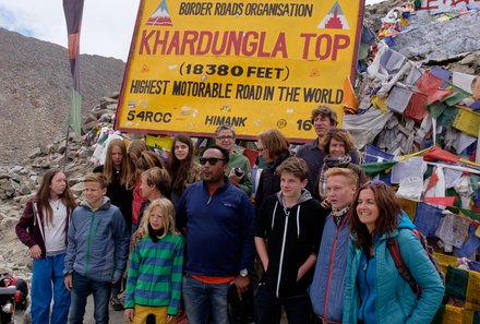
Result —
[[63, 265], [70, 216], [75, 205], [65, 175], [59, 169], [48, 170], [15, 227], [16, 236], [34, 259], [33, 323], [67, 323], [70, 291], [63, 285]]

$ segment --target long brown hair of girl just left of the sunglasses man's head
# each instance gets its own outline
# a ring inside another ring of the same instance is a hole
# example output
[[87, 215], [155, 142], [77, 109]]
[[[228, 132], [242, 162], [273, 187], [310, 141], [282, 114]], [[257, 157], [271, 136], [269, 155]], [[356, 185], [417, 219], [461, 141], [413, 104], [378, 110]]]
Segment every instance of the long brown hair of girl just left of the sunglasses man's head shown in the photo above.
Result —
[[[177, 142], [187, 144], [189, 146], [189, 154], [182, 160], [175, 156], [175, 145]], [[193, 143], [189, 136], [177, 135], [171, 144], [170, 156], [168, 157], [167, 170], [171, 179], [171, 192], [181, 195], [185, 189], [187, 180], [189, 179], [190, 169], [193, 164]]]

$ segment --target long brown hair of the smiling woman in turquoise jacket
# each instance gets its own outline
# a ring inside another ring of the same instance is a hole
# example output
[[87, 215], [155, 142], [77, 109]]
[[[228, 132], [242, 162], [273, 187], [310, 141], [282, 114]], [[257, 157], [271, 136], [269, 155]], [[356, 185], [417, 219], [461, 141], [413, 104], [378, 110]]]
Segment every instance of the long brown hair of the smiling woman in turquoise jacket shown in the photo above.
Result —
[[401, 212], [401, 206], [395, 197], [394, 192], [383, 181], [369, 181], [357, 191], [353, 202], [351, 204], [350, 230], [356, 237], [356, 245], [358, 248], [370, 248], [372, 244], [372, 237], [367, 228], [367, 225], [360, 221], [357, 213], [358, 199], [360, 192], [370, 189], [373, 191], [376, 206], [379, 208], [379, 218], [375, 221], [374, 233], [392, 232], [397, 228], [398, 214]]

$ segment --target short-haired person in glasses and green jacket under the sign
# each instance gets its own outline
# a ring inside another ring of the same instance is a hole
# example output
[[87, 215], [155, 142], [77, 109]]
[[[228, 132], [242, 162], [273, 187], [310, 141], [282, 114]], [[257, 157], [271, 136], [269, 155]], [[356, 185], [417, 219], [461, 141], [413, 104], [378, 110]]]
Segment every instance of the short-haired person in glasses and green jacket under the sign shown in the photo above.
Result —
[[233, 127], [220, 124], [215, 132], [215, 144], [228, 151], [229, 160], [226, 176], [231, 184], [243, 190], [248, 196], [252, 194], [252, 179], [250, 161], [243, 154], [235, 151], [237, 137]]

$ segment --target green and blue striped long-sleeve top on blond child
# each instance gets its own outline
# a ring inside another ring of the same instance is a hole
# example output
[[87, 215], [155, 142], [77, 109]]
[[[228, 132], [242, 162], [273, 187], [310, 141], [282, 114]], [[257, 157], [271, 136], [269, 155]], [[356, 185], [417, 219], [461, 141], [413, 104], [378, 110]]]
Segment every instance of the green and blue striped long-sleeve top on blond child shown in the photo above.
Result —
[[130, 255], [125, 308], [168, 307], [176, 315], [180, 303], [183, 266], [183, 239], [168, 232], [158, 242], [144, 237]]

